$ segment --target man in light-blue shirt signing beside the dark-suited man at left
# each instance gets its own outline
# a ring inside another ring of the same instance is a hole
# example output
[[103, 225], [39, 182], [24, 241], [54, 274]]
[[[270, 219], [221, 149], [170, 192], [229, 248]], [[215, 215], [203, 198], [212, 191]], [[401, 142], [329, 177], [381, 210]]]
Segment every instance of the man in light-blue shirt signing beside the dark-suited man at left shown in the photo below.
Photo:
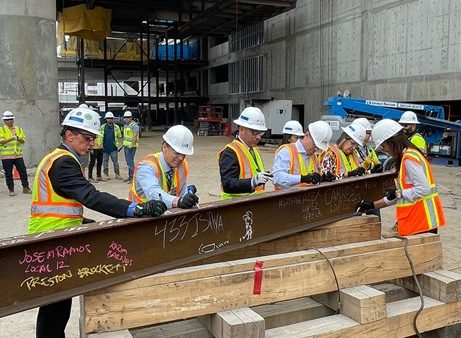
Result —
[[130, 201], [164, 201], [168, 208], [190, 209], [198, 203], [195, 187], [187, 186], [186, 156], [194, 153], [194, 136], [182, 126], [173, 126], [163, 135], [161, 151], [147, 155], [136, 164], [128, 195]]

